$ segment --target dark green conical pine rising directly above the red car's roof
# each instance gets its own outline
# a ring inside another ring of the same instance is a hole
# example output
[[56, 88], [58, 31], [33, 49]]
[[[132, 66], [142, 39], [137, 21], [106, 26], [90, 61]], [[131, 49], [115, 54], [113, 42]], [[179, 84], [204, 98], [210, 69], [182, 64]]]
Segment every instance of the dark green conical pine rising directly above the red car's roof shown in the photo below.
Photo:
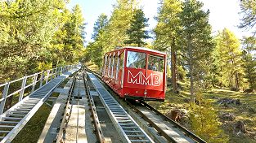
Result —
[[124, 41], [124, 44], [137, 46], [146, 45], [144, 39], [150, 38], [148, 31], [145, 28], [148, 26], [147, 22], [149, 19], [145, 18], [144, 12], [141, 9], [135, 11], [131, 20], [131, 26], [126, 30], [128, 34], [128, 40]]

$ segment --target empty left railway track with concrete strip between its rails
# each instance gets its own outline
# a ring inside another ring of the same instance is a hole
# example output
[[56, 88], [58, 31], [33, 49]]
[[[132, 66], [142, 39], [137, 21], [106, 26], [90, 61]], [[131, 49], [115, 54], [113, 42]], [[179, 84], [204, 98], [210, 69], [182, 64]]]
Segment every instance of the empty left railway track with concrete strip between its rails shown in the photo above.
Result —
[[73, 77], [62, 114], [60, 131], [53, 142], [105, 142], [96, 106], [84, 77], [84, 72], [78, 72]]

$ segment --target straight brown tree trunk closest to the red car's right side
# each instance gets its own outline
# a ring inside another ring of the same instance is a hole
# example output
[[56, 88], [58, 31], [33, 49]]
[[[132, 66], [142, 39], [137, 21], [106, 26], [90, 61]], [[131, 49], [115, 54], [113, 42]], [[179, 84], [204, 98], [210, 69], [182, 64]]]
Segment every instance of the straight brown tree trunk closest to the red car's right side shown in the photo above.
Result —
[[177, 93], [177, 71], [176, 71], [176, 63], [177, 58], [175, 54], [175, 38], [173, 37], [173, 43], [171, 46], [171, 69], [172, 69], [172, 85], [173, 85], [173, 93]]

